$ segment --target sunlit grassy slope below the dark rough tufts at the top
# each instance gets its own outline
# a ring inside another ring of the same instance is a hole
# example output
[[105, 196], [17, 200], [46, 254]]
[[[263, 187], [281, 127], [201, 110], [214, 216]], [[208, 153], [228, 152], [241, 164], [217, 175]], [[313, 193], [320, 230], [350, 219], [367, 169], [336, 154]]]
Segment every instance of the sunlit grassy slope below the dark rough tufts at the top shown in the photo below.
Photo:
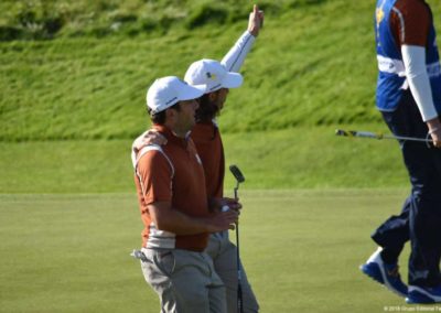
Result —
[[[374, 3], [268, 3], [265, 30], [243, 67], [245, 84], [230, 93], [222, 117], [224, 131], [379, 121]], [[245, 1], [236, 6], [250, 9]], [[432, 7], [437, 17], [441, 4]], [[0, 42], [0, 140], [132, 138], [148, 126], [144, 93], [153, 78], [183, 76], [197, 58], [222, 58], [246, 28], [246, 17], [238, 17], [132, 36]]]

